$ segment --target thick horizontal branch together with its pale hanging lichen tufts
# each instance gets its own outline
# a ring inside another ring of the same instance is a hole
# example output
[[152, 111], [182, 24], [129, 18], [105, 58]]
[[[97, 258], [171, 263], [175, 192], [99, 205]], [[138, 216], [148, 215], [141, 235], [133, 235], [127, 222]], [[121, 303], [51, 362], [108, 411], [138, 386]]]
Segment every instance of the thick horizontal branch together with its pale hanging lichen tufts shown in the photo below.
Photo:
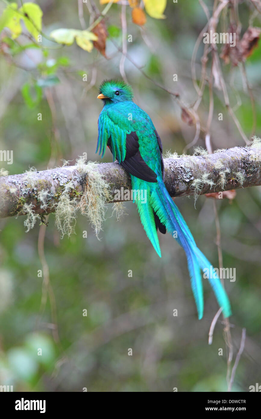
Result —
[[[199, 194], [258, 186], [261, 140], [254, 137], [248, 147], [217, 150], [210, 155], [199, 148], [194, 155], [168, 153], [164, 164], [165, 185], [171, 197], [194, 195], [196, 199]], [[79, 158], [75, 166], [41, 172], [31, 168], [20, 175], [0, 177], [0, 217], [27, 215], [28, 230], [37, 218], [42, 222], [44, 215], [55, 212], [57, 228], [62, 235], [70, 235], [80, 211], [98, 235], [107, 204], [115, 202], [114, 191], [121, 188], [131, 189], [131, 182], [118, 163], [85, 163]], [[122, 211], [116, 209], [116, 215]]]

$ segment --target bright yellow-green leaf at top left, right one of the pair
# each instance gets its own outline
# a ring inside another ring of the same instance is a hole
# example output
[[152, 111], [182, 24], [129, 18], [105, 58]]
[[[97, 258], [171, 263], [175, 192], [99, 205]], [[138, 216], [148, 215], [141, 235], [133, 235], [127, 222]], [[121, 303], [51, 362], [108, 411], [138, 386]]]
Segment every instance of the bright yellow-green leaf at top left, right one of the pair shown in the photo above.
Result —
[[35, 3], [24, 3], [19, 11], [24, 15], [23, 21], [26, 29], [38, 41], [37, 37], [42, 29], [43, 12], [41, 8]]

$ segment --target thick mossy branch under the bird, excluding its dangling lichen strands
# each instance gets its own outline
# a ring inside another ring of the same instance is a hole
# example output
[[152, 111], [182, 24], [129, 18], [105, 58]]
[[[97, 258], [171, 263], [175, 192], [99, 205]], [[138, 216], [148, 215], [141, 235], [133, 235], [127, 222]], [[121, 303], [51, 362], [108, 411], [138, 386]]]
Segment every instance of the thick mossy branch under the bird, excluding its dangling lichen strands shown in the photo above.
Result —
[[[171, 155], [164, 159], [165, 185], [171, 197], [207, 194], [261, 185], [260, 141], [250, 147], [233, 147], [207, 155]], [[0, 177], [0, 217], [55, 212], [67, 188], [70, 199], [82, 199], [93, 175], [108, 186], [106, 202], [114, 192], [130, 189], [130, 178], [118, 163], [88, 163], [41, 172]], [[104, 182], [105, 181], [105, 182]], [[95, 198], [95, 197], [94, 197]], [[86, 197], [85, 197], [86, 199]]]

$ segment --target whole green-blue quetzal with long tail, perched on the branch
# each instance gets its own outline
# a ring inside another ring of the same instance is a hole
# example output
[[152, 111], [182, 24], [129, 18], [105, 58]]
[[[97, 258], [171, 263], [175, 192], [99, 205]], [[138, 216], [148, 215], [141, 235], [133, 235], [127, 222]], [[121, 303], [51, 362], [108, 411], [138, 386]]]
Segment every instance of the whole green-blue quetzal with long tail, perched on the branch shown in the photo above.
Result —
[[[152, 120], [133, 101], [130, 85], [117, 80], [105, 80], [100, 86], [99, 99], [104, 106], [98, 119], [97, 151], [103, 157], [106, 147], [113, 160], [127, 170], [132, 189], [147, 191], [147, 202], [136, 199], [142, 225], [155, 251], [161, 257], [157, 230], [176, 238], [183, 247], [196, 300], [199, 319], [203, 316], [203, 286], [201, 269], [209, 269], [209, 282], [225, 317], [230, 316], [230, 303], [212, 265], [197, 248], [194, 238], [176, 204], [164, 185], [162, 143]], [[173, 234], [176, 232], [176, 234]], [[214, 278], [214, 279], [212, 279]]]

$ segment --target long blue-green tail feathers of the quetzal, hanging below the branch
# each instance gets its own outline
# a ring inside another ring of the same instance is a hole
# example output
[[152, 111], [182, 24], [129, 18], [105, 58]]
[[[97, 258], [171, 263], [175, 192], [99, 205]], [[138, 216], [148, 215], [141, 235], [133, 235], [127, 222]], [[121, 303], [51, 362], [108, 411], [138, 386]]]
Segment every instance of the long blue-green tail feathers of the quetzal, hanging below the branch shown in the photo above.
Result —
[[204, 269], [207, 269], [206, 272], [209, 273], [209, 283], [214, 291], [220, 307], [223, 308], [224, 316], [230, 316], [230, 303], [227, 294], [220, 282], [220, 279], [215, 277], [216, 274], [213, 273], [212, 265], [204, 256], [204, 254], [199, 250], [199, 248], [197, 248], [194, 238], [181, 213], [179, 212], [178, 207], [176, 204], [174, 204], [173, 200], [168, 194], [163, 180], [158, 178], [158, 182], [156, 184], [148, 185], [147, 182], [140, 181], [140, 179], [137, 184], [137, 182], [134, 182], [134, 179], [135, 178], [132, 178], [133, 186], [138, 186], [140, 189], [142, 189], [142, 187], [147, 188], [147, 203], [136, 203], [147, 236], [150, 238], [150, 241], [152, 242], [152, 245], [154, 246], [157, 253], [160, 255], [160, 246], [158, 242], [153, 211], [156, 212], [160, 218], [160, 221], [166, 226], [167, 231], [173, 235], [174, 238], [176, 238], [186, 253], [191, 279], [191, 287], [196, 301], [199, 319], [202, 318], [204, 309], [201, 274], [201, 270]]

